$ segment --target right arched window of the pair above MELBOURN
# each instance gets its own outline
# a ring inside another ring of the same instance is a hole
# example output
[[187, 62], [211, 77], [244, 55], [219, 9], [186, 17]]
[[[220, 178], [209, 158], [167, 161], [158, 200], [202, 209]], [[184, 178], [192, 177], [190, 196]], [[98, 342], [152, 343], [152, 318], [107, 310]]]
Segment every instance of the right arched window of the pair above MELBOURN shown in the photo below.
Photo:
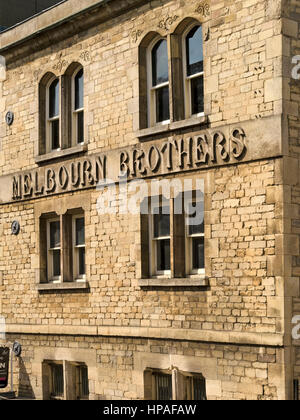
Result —
[[73, 145], [84, 143], [83, 68], [73, 77], [72, 138]]

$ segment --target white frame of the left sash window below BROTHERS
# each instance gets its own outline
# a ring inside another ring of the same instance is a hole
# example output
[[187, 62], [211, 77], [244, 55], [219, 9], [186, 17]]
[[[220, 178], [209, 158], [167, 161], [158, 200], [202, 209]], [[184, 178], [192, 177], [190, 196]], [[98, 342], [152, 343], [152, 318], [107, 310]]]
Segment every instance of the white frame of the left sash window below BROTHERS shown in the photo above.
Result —
[[[166, 207], [169, 206], [169, 204], [165, 203], [164, 204], [159, 204], [159, 208], [162, 207]], [[155, 207], [158, 208], [158, 207]], [[154, 232], [155, 232], [155, 227], [154, 227], [154, 218], [155, 218], [155, 214], [151, 213], [150, 211], [150, 223], [149, 223], [149, 238], [150, 238], [150, 271], [151, 271], [151, 277], [157, 277], [157, 278], [171, 278], [171, 268], [170, 270], [158, 270], [157, 269], [157, 243], [158, 241], [162, 241], [162, 240], [169, 240], [170, 241], [170, 256], [171, 256], [171, 214], [169, 214], [169, 218], [170, 218], [170, 235], [169, 236], [161, 236], [159, 238], [155, 238], [154, 237]], [[171, 261], [170, 261], [170, 265], [171, 265]]]

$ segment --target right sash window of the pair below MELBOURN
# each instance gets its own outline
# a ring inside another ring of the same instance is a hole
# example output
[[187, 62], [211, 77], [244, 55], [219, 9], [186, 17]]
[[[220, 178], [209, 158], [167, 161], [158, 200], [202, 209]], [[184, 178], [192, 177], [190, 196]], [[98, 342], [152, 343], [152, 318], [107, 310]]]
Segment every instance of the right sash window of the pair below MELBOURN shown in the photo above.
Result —
[[76, 280], [85, 279], [84, 216], [73, 216], [73, 270]]

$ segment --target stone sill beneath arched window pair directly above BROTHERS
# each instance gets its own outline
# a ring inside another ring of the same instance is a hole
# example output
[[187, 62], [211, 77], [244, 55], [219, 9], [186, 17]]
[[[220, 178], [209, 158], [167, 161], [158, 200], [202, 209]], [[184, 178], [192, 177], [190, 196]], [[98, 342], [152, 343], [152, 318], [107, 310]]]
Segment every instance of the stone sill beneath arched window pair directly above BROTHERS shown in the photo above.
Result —
[[140, 140], [145, 140], [147, 137], [155, 136], [158, 134], [167, 134], [170, 131], [179, 131], [186, 128], [192, 128], [203, 125], [207, 122], [207, 116], [188, 118], [186, 120], [175, 121], [165, 125], [156, 125], [154, 127], [144, 128], [136, 132], [136, 136]]

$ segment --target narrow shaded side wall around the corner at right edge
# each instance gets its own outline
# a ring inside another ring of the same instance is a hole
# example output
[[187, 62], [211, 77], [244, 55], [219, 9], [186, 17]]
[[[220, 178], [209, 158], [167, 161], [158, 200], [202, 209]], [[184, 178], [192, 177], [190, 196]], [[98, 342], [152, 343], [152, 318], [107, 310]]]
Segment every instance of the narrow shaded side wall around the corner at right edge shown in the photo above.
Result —
[[[290, 279], [287, 287], [287, 296], [291, 296], [291, 313], [289, 318], [299, 317], [300, 315], [300, 252], [299, 252], [299, 241], [300, 241], [300, 76], [297, 71], [297, 64], [295, 62], [296, 56], [300, 55], [300, 41], [299, 41], [299, 23], [300, 23], [300, 8], [296, 1], [287, 2], [287, 11], [285, 19], [285, 34], [290, 45], [290, 91], [289, 91], [289, 102], [284, 106], [285, 116], [288, 121], [288, 154], [289, 157], [285, 159], [285, 179], [289, 185], [289, 198], [290, 205], [286, 212], [289, 225], [287, 233], [291, 232], [290, 238], [293, 243], [294, 251], [290, 253]], [[299, 66], [298, 66], [299, 67]], [[296, 73], [296, 74], [295, 74]], [[296, 76], [296, 78], [295, 78]], [[293, 111], [291, 111], [291, 105]], [[287, 253], [289, 251], [287, 250]], [[300, 318], [298, 318], [300, 319]], [[296, 328], [299, 321], [291, 325], [291, 328]], [[296, 329], [295, 333], [299, 333], [299, 328]], [[291, 339], [292, 333], [290, 332], [289, 337]], [[291, 372], [293, 379], [300, 380], [300, 368], [299, 368], [299, 349], [300, 340], [292, 340], [292, 365], [294, 369]]]

